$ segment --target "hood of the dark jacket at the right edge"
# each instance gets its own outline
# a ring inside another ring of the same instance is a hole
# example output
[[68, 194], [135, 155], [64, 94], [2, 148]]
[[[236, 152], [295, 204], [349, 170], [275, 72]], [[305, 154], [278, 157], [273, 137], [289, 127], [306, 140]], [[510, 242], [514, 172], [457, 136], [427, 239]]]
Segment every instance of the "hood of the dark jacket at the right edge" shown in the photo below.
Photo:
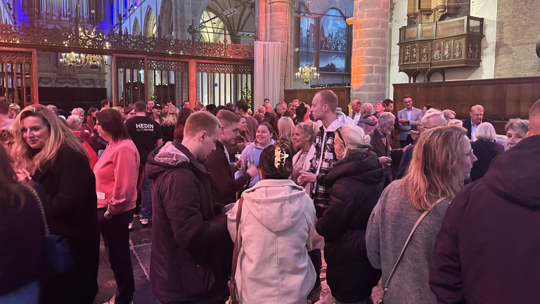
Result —
[[484, 175], [484, 182], [499, 196], [525, 208], [540, 208], [540, 135], [527, 137], [497, 156]]

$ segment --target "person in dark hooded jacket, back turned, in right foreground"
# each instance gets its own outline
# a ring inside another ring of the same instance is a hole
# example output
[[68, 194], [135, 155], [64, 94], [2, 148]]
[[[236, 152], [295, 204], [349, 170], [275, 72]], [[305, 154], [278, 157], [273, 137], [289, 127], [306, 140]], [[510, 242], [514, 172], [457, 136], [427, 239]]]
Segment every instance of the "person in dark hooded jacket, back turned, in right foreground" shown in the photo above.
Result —
[[497, 156], [482, 179], [452, 200], [430, 261], [429, 284], [437, 303], [536, 303], [540, 298], [540, 289], [532, 288], [540, 285], [538, 135], [540, 100], [529, 110], [527, 138]]

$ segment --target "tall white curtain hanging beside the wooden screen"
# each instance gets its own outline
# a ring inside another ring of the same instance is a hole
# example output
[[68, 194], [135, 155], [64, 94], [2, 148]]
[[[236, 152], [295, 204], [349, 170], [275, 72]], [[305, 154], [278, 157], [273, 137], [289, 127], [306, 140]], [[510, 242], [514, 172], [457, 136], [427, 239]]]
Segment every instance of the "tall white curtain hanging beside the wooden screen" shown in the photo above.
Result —
[[281, 42], [255, 42], [253, 74], [253, 111], [262, 106], [264, 99], [276, 106], [281, 80]]

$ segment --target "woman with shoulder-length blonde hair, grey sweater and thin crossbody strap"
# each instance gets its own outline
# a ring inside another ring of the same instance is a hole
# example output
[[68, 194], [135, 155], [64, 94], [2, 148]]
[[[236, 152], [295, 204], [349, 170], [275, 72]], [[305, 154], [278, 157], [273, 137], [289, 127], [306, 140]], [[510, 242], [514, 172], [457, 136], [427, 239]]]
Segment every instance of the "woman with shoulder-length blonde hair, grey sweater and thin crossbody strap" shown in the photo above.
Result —
[[446, 208], [469, 177], [475, 161], [465, 129], [456, 126], [428, 129], [418, 139], [404, 178], [392, 182], [383, 191], [366, 232], [368, 258], [373, 267], [383, 271], [383, 286], [411, 229], [428, 212], [397, 264], [385, 293], [385, 303], [437, 302], [428, 286], [435, 236]]

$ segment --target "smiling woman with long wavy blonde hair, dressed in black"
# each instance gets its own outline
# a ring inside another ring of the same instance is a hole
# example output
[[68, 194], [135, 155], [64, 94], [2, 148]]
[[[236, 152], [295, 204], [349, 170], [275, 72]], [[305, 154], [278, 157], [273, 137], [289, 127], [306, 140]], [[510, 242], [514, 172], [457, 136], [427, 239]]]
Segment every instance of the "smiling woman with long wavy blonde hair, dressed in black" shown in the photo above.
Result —
[[48, 108], [27, 106], [13, 124], [19, 180], [44, 186], [51, 233], [68, 241], [75, 265], [41, 279], [41, 303], [92, 303], [98, 291], [96, 179], [79, 139]]

